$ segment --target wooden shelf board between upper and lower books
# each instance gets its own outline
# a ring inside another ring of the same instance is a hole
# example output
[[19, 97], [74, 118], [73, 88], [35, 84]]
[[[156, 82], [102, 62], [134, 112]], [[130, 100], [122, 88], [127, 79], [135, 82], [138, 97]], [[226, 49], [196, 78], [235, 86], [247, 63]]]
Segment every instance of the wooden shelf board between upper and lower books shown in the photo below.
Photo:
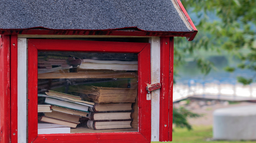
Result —
[[38, 74], [38, 79], [49, 78], [136, 78], [136, 72], [48, 72]]

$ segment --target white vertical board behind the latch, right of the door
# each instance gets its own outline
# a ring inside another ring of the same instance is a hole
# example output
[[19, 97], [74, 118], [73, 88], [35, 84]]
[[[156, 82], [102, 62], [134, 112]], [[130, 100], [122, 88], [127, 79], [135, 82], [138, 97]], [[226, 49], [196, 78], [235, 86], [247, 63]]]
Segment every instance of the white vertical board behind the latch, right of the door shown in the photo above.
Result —
[[[160, 38], [150, 38], [151, 84], [160, 83]], [[159, 141], [160, 89], [151, 91], [151, 141]]]

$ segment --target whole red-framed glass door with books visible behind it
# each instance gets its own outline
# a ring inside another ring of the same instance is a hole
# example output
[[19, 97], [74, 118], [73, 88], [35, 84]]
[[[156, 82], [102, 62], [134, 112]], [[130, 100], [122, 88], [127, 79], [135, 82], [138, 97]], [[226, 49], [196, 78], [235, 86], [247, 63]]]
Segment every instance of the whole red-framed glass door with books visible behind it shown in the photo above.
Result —
[[147, 84], [149, 43], [29, 39], [29, 142], [149, 142]]

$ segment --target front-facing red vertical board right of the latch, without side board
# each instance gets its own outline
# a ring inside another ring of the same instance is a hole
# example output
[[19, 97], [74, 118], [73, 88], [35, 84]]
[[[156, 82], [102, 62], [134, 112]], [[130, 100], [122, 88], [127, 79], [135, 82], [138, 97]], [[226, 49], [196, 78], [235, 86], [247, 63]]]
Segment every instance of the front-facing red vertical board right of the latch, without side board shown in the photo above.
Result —
[[160, 125], [159, 141], [168, 141], [169, 124], [169, 37], [160, 39]]

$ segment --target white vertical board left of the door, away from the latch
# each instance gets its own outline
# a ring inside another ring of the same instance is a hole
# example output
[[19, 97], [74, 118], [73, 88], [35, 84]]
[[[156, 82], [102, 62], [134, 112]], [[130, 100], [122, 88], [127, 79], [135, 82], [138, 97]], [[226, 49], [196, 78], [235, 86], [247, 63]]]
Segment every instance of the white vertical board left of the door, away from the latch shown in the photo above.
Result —
[[18, 50], [17, 50], [17, 105], [18, 105], [18, 119], [17, 139], [19, 143], [27, 142], [27, 39], [18, 38]]

